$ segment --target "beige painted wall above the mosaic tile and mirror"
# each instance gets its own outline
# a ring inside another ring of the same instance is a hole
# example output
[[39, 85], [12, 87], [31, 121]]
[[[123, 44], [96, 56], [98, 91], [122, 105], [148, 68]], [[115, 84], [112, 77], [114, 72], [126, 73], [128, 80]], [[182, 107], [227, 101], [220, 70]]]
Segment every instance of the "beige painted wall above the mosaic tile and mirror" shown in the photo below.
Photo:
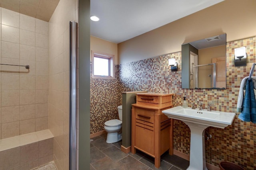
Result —
[[181, 45], [227, 33], [227, 41], [256, 35], [256, 1], [225, 0], [118, 44], [118, 64], [181, 51]]

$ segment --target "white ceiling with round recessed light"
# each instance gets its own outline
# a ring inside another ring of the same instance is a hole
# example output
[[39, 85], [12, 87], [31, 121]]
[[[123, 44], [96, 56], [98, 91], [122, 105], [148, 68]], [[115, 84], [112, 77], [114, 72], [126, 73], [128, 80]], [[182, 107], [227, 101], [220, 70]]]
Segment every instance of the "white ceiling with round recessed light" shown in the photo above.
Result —
[[91, 35], [120, 43], [223, 0], [91, 0]]

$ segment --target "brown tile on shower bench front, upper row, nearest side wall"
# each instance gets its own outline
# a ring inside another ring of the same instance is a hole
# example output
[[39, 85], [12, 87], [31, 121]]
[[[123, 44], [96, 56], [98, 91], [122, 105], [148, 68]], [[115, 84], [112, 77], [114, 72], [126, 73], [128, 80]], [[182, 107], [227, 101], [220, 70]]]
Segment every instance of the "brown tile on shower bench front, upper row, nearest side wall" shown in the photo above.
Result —
[[53, 138], [39, 141], [39, 158], [53, 154]]

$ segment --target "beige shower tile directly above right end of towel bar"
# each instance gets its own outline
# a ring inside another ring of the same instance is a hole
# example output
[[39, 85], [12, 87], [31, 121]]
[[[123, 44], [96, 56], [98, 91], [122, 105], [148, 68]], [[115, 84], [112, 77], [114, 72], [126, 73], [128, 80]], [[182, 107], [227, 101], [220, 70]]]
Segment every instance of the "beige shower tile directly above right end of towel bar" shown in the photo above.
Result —
[[36, 60], [36, 47], [20, 44], [20, 59]]

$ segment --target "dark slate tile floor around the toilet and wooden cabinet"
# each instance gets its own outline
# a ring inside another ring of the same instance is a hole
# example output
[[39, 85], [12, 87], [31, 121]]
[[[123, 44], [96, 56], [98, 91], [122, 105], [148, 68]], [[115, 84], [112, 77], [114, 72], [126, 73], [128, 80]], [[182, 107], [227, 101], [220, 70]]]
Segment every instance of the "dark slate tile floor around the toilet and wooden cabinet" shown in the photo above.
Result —
[[185, 170], [189, 161], [168, 152], [161, 156], [161, 166], [154, 166], [154, 158], [137, 150], [125, 154], [120, 150], [122, 142], [106, 143], [106, 134], [92, 138], [90, 142], [90, 170]]

